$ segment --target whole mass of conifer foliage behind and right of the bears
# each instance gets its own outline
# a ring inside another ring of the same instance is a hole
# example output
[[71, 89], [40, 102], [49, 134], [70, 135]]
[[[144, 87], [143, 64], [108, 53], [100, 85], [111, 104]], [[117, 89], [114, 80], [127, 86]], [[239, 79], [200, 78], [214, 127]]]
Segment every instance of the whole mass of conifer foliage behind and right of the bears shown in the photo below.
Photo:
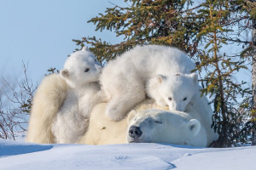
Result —
[[[96, 31], [114, 31], [123, 42], [111, 44], [96, 37], [73, 40], [90, 45], [101, 61], [137, 44], [177, 47], [195, 60], [201, 76], [201, 94], [208, 95], [214, 108], [212, 127], [219, 139], [212, 146], [228, 147], [251, 141], [255, 129], [251, 88], [238, 71], [251, 65], [254, 45], [241, 35], [253, 29], [255, 3], [244, 0], [124, 0], [125, 7], [111, 4], [105, 14], [89, 20]], [[241, 48], [237, 54], [234, 47]], [[233, 48], [233, 49], [232, 49]]]

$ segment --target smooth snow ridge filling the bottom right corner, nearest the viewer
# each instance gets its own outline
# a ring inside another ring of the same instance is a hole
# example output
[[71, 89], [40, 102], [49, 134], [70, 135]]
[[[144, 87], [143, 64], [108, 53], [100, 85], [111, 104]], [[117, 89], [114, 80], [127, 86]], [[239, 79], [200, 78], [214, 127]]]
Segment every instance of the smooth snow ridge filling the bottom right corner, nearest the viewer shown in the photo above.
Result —
[[[256, 158], [256, 147], [239, 148], [236, 150], [225, 150], [222, 152], [208, 152], [187, 156], [173, 161], [179, 170], [188, 167], [200, 167], [200, 169], [256, 169], [253, 166]], [[255, 165], [255, 164], [254, 164]]]

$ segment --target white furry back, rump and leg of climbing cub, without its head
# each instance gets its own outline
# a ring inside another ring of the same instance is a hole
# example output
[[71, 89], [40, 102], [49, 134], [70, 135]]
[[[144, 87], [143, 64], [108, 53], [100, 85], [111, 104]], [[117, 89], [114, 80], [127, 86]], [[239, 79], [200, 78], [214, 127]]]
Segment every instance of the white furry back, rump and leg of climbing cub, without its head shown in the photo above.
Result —
[[189, 75], [194, 69], [191, 59], [177, 48], [158, 45], [132, 48], [109, 61], [102, 70], [102, 91], [109, 100], [106, 114], [113, 121], [121, 120], [145, 99], [145, 84], [150, 78], [173, 73]]

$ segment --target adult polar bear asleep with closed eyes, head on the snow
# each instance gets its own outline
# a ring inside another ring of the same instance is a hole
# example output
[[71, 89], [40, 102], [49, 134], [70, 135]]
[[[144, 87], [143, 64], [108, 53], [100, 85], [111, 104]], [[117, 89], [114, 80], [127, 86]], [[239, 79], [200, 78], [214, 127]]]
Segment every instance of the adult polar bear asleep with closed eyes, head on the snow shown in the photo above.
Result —
[[[95, 106], [91, 112], [88, 131], [79, 141], [80, 144], [161, 142], [208, 146], [212, 141], [218, 139], [218, 134], [214, 133], [211, 128], [212, 115], [209, 114], [209, 112], [197, 112], [194, 105], [191, 104], [188, 105], [188, 111], [185, 113], [181, 111], [169, 111], [169, 108], [166, 106], [155, 105], [153, 99], [146, 99], [134, 108], [135, 111], [131, 111], [129, 116], [125, 116], [125, 118], [119, 122], [113, 122], [109, 120], [107, 115], [102, 114], [102, 112], [106, 111], [107, 107], [107, 103]], [[201, 108], [199, 111], [205, 111], [205, 109]], [[172, 116], [168, 116], [168, 114]], [[157, 122], [153, 122], [152, 120], [156, 120]], [[165, 122], [164, 127], [161, 122]], [[144, 123], [145, 127], [143, 127]], [[140, 130], [144, 131], [144, 135], [147, 136], [147, 138], [134, 136], [136, 133], [140, 133], [140, 131], [136, 131], [138, 125], [140, 126]], [[132, 126], [135, 127], [133, 128]], [[170, 129], [168, 129], [168, 127], [170, 127]], [[190, 130], [189, 127], [191, 128]], [[148, 129], [145, 130], [145, 128]], [[155, 133], [160, 133], [162, 135], [161, 138], [155, 138], [158, 135]], [[182, 135], [177, 137], [177, 135], [180, 134], [188, 134], [189, 136]]]

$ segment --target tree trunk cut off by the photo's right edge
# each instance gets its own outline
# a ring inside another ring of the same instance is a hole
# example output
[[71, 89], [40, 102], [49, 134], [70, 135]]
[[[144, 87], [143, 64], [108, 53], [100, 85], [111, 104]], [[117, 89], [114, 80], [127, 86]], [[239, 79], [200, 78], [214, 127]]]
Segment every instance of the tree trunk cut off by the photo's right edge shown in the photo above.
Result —
[[[255, 120], [256, 118], [256, 20], [253, 20], [253, 69], [252, 69], [252, 78], [253, 78], [253, 119]], [[256, 122], [253, 122], [253, 139], [252, 139], [252, 144], [256, 145]]]

